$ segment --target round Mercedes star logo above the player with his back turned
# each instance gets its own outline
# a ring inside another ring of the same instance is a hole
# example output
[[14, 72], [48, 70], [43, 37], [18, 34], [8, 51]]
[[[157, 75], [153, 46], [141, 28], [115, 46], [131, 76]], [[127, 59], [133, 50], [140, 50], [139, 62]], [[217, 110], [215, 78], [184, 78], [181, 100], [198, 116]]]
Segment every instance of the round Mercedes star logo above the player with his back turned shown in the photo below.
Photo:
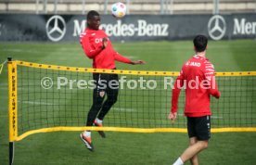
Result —
[[220, 15], [212, 16], [208, 22], [208, 32], [213, 40], [220, 40], [224, 37], [226, 24]]

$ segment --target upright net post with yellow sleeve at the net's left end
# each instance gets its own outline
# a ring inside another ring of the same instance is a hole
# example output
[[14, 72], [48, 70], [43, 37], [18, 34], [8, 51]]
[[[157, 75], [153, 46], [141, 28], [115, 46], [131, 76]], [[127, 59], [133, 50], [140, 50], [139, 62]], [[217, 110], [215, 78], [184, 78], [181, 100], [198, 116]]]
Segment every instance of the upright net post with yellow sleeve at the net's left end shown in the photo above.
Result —
[[[8, 82], [10, 80], [16, 79], [16, 77], [13, 76], [13, 74], [15, 75], [16, 70], [12, 67], [12, 64], [10, 63], [12, 61], [12, 57], [7, 57], [8, 60]], [[17, 91], [17, 89], [13, 89], [13, 87], [15, 87], [14, 84], [15, 81], [11, 81], [8, 83], [8, 96], [9, 96], [9, 106], [8, 106], [8, 112], [9, 112], [9, 124], [12, 123], [13, 125], [13, 121], [11, 121], [12, 118], [12, 113], [10, 112], [10, 108], [16, 109], [16, 103], [12, 103], [10, 101], [10, 98], [13, 98], [13, 100], [16, 99], [15, 95], [15, 91]], [[15, 111], [15, 110], [14, 110]], [[14, 119], [14, 118], [13, 118]], [[11, 127], [9, 125], [9, 127]], [[15, 134], [15, 131], [13, 131], [13, 128], [9, 128], [9, 165], [13, 164], [13, 160], [14, 160], [14, 139], [13, 139], [13, 134]]]

